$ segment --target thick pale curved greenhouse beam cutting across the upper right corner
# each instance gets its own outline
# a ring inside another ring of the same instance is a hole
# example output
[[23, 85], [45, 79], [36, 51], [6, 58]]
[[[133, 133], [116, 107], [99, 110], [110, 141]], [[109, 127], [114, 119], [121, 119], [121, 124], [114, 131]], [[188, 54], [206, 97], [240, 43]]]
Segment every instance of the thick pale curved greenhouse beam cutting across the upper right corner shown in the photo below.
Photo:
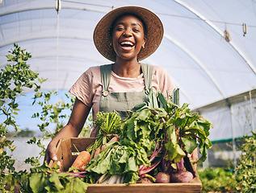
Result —
[[[211, 23], [210, 21], [208, 21], [207, 18], [204, 18], [204, 16], [202, 14], [199, 14], [199, 12], [197, 12], [196, 10], [194, 10], [191, 6], [188, 6], [186, 3], [182, 2], [181, 0], [174, 0], [174, 2], [177, 2], [178, 5], [183, 6], [184, 8], [186, 8], [187, 10], [191, 11], [192, 14], [195, 14], [198, 18], [201, 18], [205, 23], [208, 24], [209, 27], [212, 27], [212, 29], [214, 31], [216, 31], [219, 35], [221, 35], [223, 38], [224, 37], [224, 32], [220, 31], [220, 29], [218, 29], [218, 27], [216, 27], [213, 23]], [[235, 45], [235, 43], [232, 42], [228, 42], [229, 45], [231, 47], [233, 47], [233, 49], [235, 51], [237, 51], [237, 54], [241, 56], [242, 60], [244, 60], [246, 62], [246, 64], [250, 67], [250, 69], [254, 72], [254, 74], [256, 75], [256, 68], [254, 68], [254, 65], [250, 62], [250, 60], [246, 59], [246, 55], [244, 55], [242, 53], [241, 50], [239, 50], [239, 48]]]

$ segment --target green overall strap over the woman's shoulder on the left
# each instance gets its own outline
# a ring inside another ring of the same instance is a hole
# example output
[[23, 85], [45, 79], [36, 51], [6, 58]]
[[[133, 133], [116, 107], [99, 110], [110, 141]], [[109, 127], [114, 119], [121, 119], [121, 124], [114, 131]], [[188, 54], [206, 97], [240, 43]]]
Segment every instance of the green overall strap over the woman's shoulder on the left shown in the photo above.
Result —
[[108, 92], [108, 87], [111, 80], [111, 70], [112, 70], [112, 64], [106, 64], [100, 66], [100, 76], [101, 76], [101, 82], [103, 84], [103, 92]]

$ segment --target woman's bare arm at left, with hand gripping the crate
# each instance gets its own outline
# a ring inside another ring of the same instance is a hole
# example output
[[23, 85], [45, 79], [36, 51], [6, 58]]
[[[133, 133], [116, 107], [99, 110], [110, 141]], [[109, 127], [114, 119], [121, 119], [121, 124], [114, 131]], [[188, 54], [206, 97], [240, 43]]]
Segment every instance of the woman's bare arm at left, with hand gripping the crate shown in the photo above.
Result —
[[51, 142], [49, 142], [45, 152], [44, 161], [50, 162], [51, 159], [57, 161], [57, 143], [61, 138], [77, 138], [89, 113], [90, 107], [84, 105], [82, 101], [79, 101], [76, 98], [68, 124], [65, 125], [54, 138], [52, 138]]

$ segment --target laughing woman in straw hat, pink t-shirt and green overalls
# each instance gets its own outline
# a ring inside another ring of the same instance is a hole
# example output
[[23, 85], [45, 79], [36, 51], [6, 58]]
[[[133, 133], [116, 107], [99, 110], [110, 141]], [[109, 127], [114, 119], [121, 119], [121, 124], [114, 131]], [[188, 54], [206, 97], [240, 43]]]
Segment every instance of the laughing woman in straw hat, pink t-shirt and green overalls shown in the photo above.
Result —
[[[161, 20], [143, 7], [120, 7], [99, 21], [94, 45], [114, 63], [87, 69], [70, 88], [76, 96], [73, 111], [68, 124], [49, 143], [47, 162], [57, 161], [55, 151], [61, 138], [78, 137], [90, 109], [93, 118], [98, 112], [116, 112], [124, 119], [128, 110], [134, 112], [136, 105], [149, 101], [149, 88], [166, 97], [173, 93], [175, 85], [164, 68], [140, 63], [157, 50], [162, 37]], [[97, 137], [96, 133], [93, 128], [90, 137]]]

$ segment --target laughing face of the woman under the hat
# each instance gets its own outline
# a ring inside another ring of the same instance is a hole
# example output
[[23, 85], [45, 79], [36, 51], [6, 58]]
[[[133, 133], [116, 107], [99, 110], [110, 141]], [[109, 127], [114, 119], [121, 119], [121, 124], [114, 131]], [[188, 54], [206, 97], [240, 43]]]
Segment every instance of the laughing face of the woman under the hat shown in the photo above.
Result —
[[143, 23], [139, 18], [127, 14], [116, 20], [112, 31], [112, 44], [116, 59], [136, 59], [145, 46]]

